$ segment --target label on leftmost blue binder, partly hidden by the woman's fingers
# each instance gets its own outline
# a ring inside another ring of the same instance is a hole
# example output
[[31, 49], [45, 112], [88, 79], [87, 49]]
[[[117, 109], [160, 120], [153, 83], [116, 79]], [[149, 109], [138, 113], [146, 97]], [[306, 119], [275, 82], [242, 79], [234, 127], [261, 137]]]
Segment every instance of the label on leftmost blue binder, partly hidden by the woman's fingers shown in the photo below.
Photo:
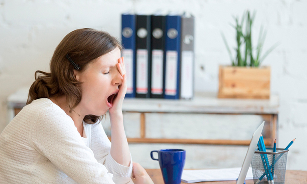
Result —
[[133, 93], [133, 50], [123, 49], [122, 56], [125, 57], [125, 68], [127, 76], [127, 92]]

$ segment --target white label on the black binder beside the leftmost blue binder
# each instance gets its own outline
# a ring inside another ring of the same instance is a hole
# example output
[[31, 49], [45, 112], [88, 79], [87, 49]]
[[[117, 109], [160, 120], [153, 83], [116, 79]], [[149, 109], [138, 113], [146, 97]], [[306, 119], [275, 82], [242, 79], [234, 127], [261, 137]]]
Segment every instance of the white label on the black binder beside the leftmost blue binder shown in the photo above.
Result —
[[139, 94], [148, 93], [148, 51], [137, 49], [136, 51], [136, 92]]

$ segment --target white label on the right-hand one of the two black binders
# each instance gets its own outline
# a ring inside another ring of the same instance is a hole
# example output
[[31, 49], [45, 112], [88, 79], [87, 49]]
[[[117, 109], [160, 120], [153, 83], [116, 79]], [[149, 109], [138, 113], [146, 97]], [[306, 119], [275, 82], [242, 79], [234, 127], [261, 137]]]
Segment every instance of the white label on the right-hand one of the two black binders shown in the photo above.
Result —
[[162, 94], [163, 89], [163, 50], [152, 50], [151, 93]]

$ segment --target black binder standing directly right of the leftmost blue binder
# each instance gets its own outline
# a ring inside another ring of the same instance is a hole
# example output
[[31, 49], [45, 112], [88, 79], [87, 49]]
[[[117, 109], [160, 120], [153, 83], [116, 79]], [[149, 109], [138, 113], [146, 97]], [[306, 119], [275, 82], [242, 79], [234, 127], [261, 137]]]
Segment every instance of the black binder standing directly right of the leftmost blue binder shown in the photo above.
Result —
[[151, 16], [136, 15], [136, 97], [150, 98]]

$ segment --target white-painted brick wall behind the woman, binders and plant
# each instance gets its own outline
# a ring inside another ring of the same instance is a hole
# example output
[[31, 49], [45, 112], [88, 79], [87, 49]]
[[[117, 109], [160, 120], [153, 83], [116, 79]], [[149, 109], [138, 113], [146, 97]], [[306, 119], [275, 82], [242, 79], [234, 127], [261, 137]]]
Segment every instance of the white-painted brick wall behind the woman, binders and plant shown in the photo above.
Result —
[[303, 0], [0, 0], [0, 132], [8, 123], [6, 98], [30, 86], [36, 70], [49, 71], [56, 45], [70, 31], [95, 28], [120, 37], [127, 10], [187, 11], [195, 16], [196, 91], [218, 90], [218, 67], [230, 60], [220, 35], [235, 45], [232, 15], [256, 10], [253, 29], [268, 30], [264, 51], [280, 45], [265, 60], [271, 67], [271, 92], [280, 95], [278, 147], [297, 138], [287, 169], [307, 170], [307, 1]]

